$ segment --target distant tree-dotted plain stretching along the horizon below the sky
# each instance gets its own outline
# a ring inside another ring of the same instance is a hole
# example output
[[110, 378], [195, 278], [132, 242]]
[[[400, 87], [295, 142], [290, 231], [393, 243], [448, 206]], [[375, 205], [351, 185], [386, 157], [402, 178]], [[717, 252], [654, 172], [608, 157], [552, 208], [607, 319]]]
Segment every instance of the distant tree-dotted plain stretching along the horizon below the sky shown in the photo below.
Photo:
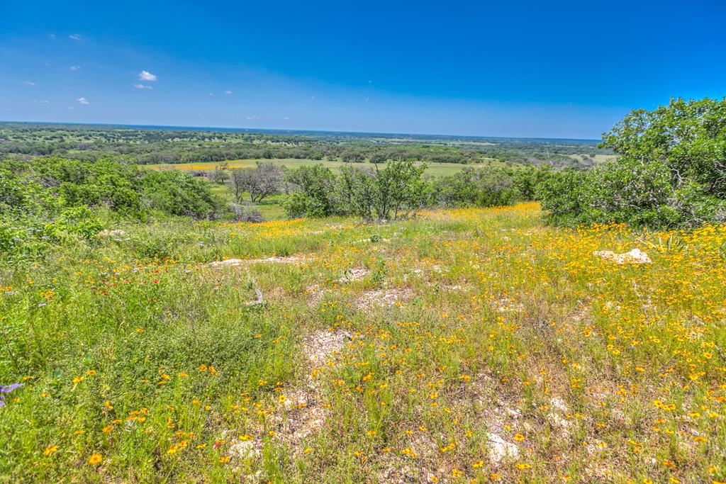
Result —
[[[220, 163], [225, 160], [415, 160], [427, 163], [589, 165], [608, 154], [595, 141], [506, 139], [279, 131], [205, 131], [131, 126], [0, 123], [0, 158], [60, 156], [94, 161], [112, 156], [134, 163]], [[218, 166], [221, 166], [218, 165]], [[214, 170], [212, 178], [227, 176]]]

